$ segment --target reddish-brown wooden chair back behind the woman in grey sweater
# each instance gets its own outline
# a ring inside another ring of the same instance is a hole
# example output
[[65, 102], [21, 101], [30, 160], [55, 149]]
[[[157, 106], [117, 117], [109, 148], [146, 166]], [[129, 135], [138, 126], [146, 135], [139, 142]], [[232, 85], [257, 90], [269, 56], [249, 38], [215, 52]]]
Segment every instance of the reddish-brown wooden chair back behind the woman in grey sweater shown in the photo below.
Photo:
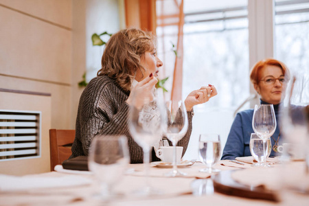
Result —
[[49, 130], [50, 170], [68, 159], [75, 139], [75, 130]]

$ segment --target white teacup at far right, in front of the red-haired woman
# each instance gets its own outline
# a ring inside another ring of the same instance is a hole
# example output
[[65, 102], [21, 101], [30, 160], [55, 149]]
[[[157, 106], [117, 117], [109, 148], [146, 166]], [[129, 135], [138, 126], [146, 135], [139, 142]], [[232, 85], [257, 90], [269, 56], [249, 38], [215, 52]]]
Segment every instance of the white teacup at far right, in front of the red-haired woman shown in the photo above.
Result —
[[288, 144], [284, 143], [278, 146], [278, 152], [290, 155], [290, 159], [300, 160], [305, 159], [305, 150], [301, 144]]

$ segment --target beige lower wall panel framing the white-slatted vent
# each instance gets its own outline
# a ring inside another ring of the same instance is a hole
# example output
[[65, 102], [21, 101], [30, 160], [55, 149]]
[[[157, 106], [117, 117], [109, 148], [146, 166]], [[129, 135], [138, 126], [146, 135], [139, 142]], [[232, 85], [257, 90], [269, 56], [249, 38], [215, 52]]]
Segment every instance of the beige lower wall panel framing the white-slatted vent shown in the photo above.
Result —
[[[1, 82], [1, 81], [0, 81]], [[41, 157], [0, 161], [0, 174], [24, 175], [49, 172], [49, 128], [51, 98], [0, 91], [0, 108], [19, 111], [41, 111]], [[20, 100], [20, 101], [16, 101]]]

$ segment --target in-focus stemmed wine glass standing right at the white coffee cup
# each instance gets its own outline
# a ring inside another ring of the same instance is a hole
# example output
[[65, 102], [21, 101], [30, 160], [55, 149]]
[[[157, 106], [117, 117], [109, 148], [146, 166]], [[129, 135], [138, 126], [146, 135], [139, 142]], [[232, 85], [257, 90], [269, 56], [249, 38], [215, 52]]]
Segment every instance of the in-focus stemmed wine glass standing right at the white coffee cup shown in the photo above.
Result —
[[185, 103], [182, 100], [179, 101], [167, 101], [165, 106], [168, 110], [168, 128], [166, 130], [166, 137], [172, 141], [174, 147], [173, 155], [173, 168], [172, 171], [165, 174], [165, 176], [185, 176], [184, 172], [180, 172], [177, 169], [176, 163], [176, 145], [180, 139], [187, 133], [188, 120], [187, 120], [187, 110], [185, 108]]

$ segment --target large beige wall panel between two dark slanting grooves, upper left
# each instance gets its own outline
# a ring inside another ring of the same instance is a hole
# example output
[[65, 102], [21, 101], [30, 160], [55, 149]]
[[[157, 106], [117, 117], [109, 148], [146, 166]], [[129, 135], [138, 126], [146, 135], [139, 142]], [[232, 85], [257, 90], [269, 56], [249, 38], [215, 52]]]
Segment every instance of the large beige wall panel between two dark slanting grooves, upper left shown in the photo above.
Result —
[[71, 31], [1, 6], [0, 19], [0, 73], [70, 84]]

